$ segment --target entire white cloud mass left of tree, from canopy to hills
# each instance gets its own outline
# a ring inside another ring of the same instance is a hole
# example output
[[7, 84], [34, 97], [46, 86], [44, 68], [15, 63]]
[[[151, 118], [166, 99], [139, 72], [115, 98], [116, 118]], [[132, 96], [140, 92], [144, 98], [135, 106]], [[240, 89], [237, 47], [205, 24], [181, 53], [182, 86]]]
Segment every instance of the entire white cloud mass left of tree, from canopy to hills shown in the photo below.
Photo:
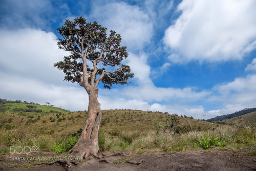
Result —
[[0, 30], [0, 36], [1, 98], [41, 104], [49, 101], [72, 110], [75, 106], [79, 108], [80, 101], [84, 103], [82, 99], [88, 99], [86, 92], [63, 82], [63, 74], [53, 68], [55, 62], [68, 55], [58, 49], [53, 33], [35, 29]]

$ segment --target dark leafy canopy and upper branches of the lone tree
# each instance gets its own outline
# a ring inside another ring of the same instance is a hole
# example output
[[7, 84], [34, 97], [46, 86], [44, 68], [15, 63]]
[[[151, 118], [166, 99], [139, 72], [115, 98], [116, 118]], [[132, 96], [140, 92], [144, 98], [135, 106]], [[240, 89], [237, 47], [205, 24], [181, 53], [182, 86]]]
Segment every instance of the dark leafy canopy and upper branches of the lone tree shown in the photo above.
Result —
[[126, 47], [121, 47], [121, 35], [107, 29], [96, 21], [88, 23], [83, 17], [66, 20], [58, 28], [62, 39], [57, 45], [60, 49], [71, 52], [63, 61], [54, 64], [66, 76], [64, 80], [77, 82], [87, 91], [97, 88], [100, 81], [103, 87], [111, 89], [112, 84], [127, 84], [134, 76], [127, 65], [121, 61], [127, 58]]

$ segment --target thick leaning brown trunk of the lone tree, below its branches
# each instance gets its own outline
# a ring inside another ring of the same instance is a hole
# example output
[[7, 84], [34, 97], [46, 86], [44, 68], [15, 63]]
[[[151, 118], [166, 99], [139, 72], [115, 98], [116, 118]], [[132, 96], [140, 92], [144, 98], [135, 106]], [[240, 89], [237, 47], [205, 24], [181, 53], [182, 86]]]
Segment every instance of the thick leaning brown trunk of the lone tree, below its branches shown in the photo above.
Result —
[[86, 122], [76, 145], [71, 149], [70, 155], [84, 159], [90, 154], [97, 155], [99, 151], [98, 131], [101, 121], [100, 103], [98, 102], [97, 91], [89, 93], [89, 106]]

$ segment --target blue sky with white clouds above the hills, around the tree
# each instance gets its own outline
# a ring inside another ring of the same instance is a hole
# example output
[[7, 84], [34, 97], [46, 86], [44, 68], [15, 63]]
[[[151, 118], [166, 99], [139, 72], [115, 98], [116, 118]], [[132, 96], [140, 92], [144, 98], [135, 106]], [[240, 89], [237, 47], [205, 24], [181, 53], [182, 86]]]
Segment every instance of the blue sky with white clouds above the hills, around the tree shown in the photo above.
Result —
[[53, 68], [57, 28], [83, 16], [122, 36], [133, 82], [104, 90], [101, 109], [212, 118], [256, 106], [256, 1], [0, 2], [0, 98], [87, 110], [88, 95]]

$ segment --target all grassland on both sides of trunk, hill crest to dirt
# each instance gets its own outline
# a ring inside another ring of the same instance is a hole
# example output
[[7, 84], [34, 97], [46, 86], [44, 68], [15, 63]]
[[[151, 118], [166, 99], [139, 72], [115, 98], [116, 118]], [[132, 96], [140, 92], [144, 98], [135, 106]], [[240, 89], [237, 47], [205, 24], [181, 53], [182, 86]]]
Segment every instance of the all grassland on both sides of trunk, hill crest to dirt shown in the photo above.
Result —
[[[99, 131], [101, 151], [132, 149], [186, 151], [212, 146], [251, 148], [255, 154], [255, 128], [199, 121], [176, 116], [179, 124], [173, 131], [157, 129], [168, 114], [133, 110], [103, 110]], [[11, 146], [39, 146], [42, 152], [63, 153], [79, 138], [87, 112], [0, 113], [0, 153], [9, 154]]]

